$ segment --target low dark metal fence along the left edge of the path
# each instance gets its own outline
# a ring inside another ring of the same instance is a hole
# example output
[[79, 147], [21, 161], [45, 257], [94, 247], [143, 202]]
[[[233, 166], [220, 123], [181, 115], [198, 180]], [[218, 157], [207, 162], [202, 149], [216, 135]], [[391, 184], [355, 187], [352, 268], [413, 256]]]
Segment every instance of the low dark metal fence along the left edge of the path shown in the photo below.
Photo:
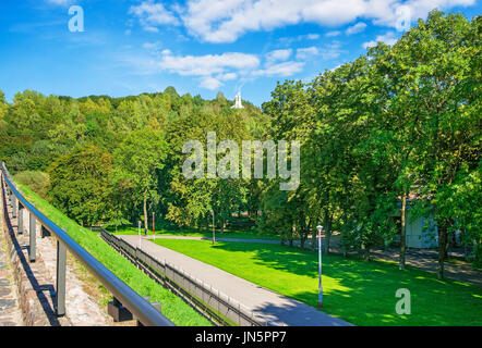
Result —
[[191, 302], [193, 307], [216, 324], [224, 326], [230, 326], [232, 323], [241, 326], [276, 325], [275, 322], [264, 319], [261, 314], [255, 315], [250, 308], [183, 270], [166, 261], [162, 262], [153, 258], [140, 248], [132, 246], [104, 228], [97, 228], [97, 231], [100, 231], [100, 236], [104, 240], [124, 254], [132, 263], [143, 269], [144, 272], [155, 277], [164, 286], [183, 297], [184, 300]]

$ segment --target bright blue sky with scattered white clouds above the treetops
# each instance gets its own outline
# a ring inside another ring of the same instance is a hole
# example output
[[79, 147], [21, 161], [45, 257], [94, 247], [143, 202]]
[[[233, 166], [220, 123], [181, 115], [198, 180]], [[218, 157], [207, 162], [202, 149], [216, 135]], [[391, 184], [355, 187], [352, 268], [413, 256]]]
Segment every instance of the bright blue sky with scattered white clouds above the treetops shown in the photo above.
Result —
[[[256, 105], [277, 80], [311, 80], [394, 44], [434, 8], [481, 14], [481, 0], [2, 0], [0, 89], [121, 97], [174, 86]], [[71, 32], [83, 10], [84, 32]]]

